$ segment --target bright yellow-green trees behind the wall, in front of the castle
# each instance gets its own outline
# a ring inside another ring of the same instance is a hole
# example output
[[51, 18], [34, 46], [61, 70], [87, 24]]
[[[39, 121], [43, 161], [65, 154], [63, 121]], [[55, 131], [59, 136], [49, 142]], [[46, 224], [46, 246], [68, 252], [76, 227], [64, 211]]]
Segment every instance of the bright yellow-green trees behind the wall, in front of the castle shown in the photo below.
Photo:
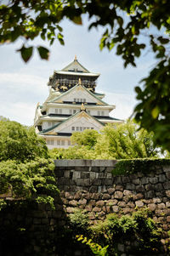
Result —
[[83, 159], [131, 159], [157, 156], [153, 134], [133, 122], [117, 125], [106, 125], [99, 134], [94, 130], [72, 134], [71, 141], [75, 146], [68, 149], [54, 149], [51, 157]]

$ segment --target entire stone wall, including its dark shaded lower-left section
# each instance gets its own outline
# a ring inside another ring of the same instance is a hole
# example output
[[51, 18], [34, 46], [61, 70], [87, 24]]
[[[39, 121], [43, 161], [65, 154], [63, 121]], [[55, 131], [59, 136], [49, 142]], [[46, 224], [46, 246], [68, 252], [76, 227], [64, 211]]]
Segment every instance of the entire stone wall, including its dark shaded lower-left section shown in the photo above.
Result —
[[[60, 194], [56, 195], [53, 211], [48, 206], [14, 202], [8, 197], [8, 207], [0, 211], [0, 255], [92, 255], [68, 231], [67, 217], [77, 208], [88, 213], [92, 224], [105, 219], [108, 213], [128, 214], [150, 208], [154, 220], [165, 231], [161, 242], [166, 243], [170, 228], [170, 166], [148, 174], [114, 176], [115, 164], [112, 160], [56, 160], [54, 172]], [[135, 256], [127, 251], [131, 246], [128, 241], [119, 242], [118, 255]], [[167, 255], [166, 249], [153, 255]]]

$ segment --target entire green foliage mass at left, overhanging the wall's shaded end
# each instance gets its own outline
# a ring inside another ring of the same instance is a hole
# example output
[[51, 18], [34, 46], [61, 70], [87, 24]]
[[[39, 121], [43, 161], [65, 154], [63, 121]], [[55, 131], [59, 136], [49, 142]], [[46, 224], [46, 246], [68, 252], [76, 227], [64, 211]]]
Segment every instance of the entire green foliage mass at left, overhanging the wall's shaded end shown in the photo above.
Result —
[[[31, 199], [54, 207], [58, 193], [54, 160], [34, 128], [3, 118], [0, 121], [0, 195]], [[0, 210], [5, 206], [0, 200]]]

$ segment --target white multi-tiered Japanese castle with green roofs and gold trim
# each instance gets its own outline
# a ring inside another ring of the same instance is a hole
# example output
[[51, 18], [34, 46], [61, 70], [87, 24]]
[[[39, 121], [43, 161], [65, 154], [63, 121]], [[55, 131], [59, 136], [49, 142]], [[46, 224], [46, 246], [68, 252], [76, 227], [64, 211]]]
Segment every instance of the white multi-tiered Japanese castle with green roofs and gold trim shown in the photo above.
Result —
[[98, 132], [106, 123], [119, 123], [109, 116], [116, 105], [103, 101], [105, 94], [95, 92], [99, 73], [92, 73], [75, 56], [71, 64], [49, 77], [49, 95], [42, 105], [37, 104], [34, 126], [49, 149], [68, 148], [71, 134], [85, 129]]

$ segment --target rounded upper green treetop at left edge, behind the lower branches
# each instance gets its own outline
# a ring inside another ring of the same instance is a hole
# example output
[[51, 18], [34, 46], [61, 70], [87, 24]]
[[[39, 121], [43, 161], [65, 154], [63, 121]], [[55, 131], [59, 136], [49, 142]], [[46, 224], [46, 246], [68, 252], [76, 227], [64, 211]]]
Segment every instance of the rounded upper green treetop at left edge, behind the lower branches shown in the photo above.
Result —
[[0, 121], [0, 161], [18, 162], [47, 157], [45, 141], [37, 136], [33, 127], [24, 127], [19, 122]]

